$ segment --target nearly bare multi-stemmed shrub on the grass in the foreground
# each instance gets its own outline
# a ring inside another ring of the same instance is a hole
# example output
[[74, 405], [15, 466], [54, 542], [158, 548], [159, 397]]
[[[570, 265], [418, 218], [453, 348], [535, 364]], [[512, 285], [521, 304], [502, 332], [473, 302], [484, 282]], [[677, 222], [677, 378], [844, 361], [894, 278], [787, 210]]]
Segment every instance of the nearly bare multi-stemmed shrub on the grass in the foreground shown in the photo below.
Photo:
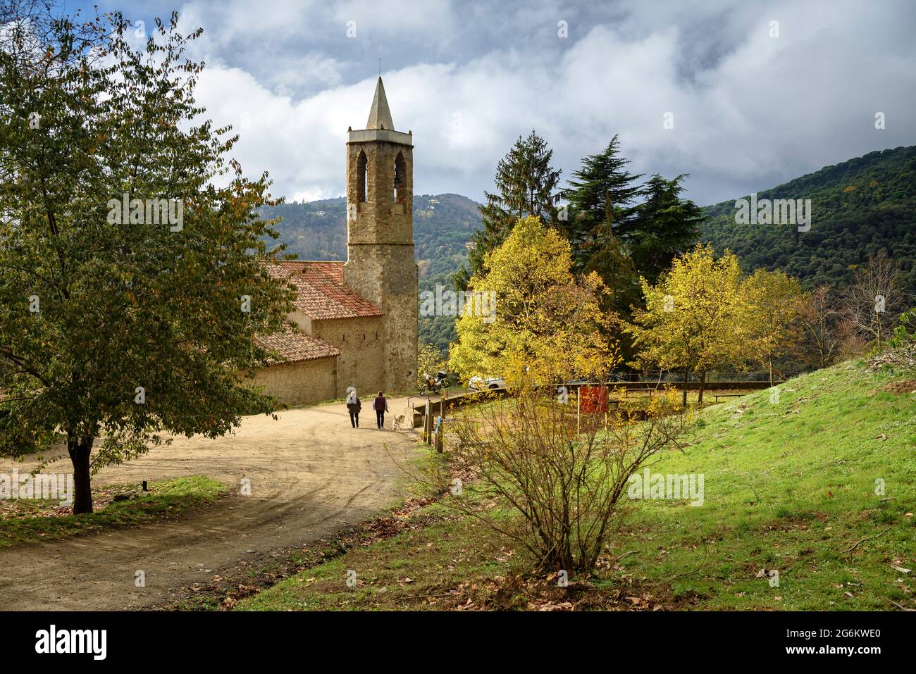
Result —
[[[448, 447], [477, 478], [452, 486], [450, 501], [516, 541], [539, 571], [592, 571], [626, 509], [630, 475], [660, 451], [681, 449], [679, 411], [671, 394], [654, 398], [641, 421], [613, 410], [577, 418], [574, 404], [531, 388], [465, 409], [448, 424]], [[452, 475], [440, 470], [448, 488]], [[520, 517], [479, 507], [481, 497]]]

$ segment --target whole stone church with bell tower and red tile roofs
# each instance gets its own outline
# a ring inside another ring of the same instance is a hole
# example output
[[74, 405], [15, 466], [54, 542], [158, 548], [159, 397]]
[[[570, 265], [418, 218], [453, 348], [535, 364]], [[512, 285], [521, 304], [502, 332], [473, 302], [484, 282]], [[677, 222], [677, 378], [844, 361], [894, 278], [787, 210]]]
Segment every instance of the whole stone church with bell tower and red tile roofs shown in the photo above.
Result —
[[275, 355], [254, 384], [289, 406], [417, 386], [413, 134], [395, 130], [382, 78], [365, 129], [348, 129], [346, 262], [280, 262], [296, 291], [285, 332], [258, 338]]

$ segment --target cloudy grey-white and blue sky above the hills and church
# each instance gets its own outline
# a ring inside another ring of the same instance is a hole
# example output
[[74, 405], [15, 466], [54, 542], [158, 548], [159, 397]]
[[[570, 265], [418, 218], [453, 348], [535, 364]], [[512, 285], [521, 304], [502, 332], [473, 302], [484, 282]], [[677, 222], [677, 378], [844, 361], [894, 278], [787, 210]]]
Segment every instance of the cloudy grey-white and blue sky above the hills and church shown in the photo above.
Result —
[[634, 172], [690, 173], [701, 204], [916, 144], [911, 0], [96, 2], [203, 27], [200, 102], [290, 200], [343, 194], [379, 58], [418, 194], [482, 199], [532, 128], [564, 178], [619, 134]]

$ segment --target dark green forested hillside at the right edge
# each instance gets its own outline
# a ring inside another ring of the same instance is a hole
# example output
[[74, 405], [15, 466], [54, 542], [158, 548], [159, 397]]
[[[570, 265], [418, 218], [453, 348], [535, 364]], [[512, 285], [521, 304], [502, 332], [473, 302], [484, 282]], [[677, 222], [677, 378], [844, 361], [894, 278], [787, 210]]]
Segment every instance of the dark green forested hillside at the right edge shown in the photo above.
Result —
[[869, 152], [822, 168], [759, 199], [811, 199], [811, 231], [791, 225], [736, 224], [735, 200], [707, 206], [703, 240], [730, 248], [745, 271], [782, 269], [812, 288], [848, 283], [867, 255], [886, 248], [916, 294], [916, 146]]

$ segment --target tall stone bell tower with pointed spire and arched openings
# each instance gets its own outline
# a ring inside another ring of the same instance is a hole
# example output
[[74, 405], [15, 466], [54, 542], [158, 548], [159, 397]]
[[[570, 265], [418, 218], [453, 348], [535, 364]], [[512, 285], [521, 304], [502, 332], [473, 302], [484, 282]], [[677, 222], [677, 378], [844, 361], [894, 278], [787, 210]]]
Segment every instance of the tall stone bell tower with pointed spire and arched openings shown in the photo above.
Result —
[[385, 386], [417, 386], [417, 264], [413, 259], [413, 135], [395, 131], [382, 78], [365, 129], [346, 144], [344, 283], [385, 312]]

